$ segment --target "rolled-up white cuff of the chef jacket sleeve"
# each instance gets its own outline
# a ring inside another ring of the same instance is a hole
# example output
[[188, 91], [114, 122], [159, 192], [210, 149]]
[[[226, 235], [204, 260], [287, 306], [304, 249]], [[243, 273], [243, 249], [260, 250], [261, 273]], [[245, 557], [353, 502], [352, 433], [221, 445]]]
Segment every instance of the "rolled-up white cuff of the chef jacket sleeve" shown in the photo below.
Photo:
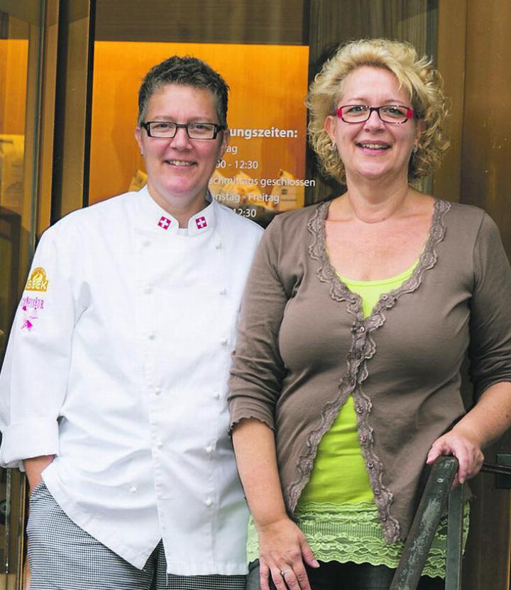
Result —
[[2, 467], [21, 469], [21, 461], [59, 451], [56, 420], [34, 419], [15, 422], [6, 428], [0, 449]]

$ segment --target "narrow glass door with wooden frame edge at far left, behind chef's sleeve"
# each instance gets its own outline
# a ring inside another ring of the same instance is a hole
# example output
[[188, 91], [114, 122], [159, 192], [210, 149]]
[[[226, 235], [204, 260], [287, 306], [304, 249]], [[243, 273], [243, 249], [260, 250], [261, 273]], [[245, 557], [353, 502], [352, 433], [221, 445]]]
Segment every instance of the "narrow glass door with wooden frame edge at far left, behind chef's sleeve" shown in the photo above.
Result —
[[[0, 361], [35, 242], [38, 1], [0, 1]], [[25, 477], [0, 469], [0, 588], [22, 584]]]

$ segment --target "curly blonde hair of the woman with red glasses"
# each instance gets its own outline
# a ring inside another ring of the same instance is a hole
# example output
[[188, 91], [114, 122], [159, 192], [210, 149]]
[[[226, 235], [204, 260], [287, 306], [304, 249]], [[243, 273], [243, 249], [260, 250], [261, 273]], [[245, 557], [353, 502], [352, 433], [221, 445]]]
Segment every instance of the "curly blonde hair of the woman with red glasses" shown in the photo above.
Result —
[[439, 72], [427, 56], [419, 58], [414, 46], [389, 39], [360, 39], [341, 45], [314, 77], [305, 104], [309, 109], [309, 141], [326, 175], [346, 182], [344, 165], [324, 129], [326, 117], [335, 114], [344, 92], [344, 80], [358, 67], [382, 67], [397, 77], [410, 95], [412, 109], [422, 121], [417, 152], [410, 158], [408, 180], [413, 182], [439, 167], [449, 147], [444, 131], [448, 105]]

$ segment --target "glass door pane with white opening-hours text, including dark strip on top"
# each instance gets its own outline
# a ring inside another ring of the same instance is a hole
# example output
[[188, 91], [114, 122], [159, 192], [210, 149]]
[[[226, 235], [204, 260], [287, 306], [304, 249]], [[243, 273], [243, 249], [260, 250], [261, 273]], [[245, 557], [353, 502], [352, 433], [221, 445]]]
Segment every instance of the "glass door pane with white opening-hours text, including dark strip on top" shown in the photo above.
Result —
[[[264, 11], [244, 1], [179, 0], [172, 11], [152, 2], [142, 24], [135, 2], [97, 1], [89, 204], [145, 184], [133, 137], [138, 86], [165, 58], [194, 55], [231, 87], [231, 141], [211, 194], [263, 226], [302, 207], [315, 184], [306, 174], [307, 11], [304, 0], [279, 0]], [[140, 25], [128, 26], [131, 17]]]

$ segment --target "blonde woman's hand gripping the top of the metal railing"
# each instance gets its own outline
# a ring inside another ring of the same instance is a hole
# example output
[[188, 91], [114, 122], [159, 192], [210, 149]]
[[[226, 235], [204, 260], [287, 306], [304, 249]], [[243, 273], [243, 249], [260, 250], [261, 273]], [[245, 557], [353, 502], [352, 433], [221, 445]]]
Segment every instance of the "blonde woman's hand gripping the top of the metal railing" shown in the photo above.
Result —
[[484, 455], [476, 435], [460, 425], [436, 439], [429, 449], [426, 463], [433, 464], [441, 455], [454, 455], [458, 459], [458, 473], [454, 478], [453, 488], [476, 476], [483, 466]]

